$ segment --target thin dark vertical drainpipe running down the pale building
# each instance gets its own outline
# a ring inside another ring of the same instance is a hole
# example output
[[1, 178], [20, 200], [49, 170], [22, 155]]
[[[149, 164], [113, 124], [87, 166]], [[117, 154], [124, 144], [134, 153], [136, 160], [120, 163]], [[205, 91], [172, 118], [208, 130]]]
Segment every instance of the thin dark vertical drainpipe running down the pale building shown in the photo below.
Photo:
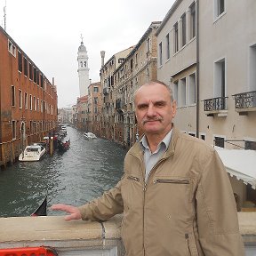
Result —
[[199, 0], [196, 1], [196, 137], [199, 138]]

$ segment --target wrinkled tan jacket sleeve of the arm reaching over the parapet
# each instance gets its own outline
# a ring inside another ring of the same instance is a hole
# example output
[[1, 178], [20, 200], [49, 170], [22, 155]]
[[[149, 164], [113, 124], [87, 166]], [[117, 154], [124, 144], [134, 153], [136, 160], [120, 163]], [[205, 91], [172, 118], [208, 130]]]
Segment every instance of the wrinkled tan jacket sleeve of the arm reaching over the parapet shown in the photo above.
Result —
[[121, 195], [120, 180], [115, 188], [108, 190], [102, 196], [88, 204], [79, 206], [82, 220], [108, 220], [114, 215], [123, 212], [123, 199]]

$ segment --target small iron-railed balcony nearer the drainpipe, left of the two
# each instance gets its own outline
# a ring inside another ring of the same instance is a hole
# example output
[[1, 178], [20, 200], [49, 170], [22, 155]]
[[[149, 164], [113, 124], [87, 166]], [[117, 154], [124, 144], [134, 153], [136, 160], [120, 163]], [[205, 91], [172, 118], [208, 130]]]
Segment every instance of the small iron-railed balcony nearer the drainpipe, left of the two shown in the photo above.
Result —
[[228, 97], [217, 97], [204, 100], [204, 113], [206, 116], [228, 116]]

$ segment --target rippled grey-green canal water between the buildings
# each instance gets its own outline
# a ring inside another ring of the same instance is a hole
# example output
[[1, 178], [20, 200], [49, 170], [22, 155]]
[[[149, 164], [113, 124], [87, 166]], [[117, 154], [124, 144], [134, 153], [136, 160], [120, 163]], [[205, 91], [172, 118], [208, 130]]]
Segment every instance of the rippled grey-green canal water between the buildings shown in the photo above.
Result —
[[[44, 200], [81, 205], [116, 185], [124, 173], [126, 150], [115, 142], [84, 140], [68, 126], [70, 148], [40, 162], [17, 162], [0, 171], [0, 217], [28, 216]], [[48, 215], [60, 212], [47, 211]]]

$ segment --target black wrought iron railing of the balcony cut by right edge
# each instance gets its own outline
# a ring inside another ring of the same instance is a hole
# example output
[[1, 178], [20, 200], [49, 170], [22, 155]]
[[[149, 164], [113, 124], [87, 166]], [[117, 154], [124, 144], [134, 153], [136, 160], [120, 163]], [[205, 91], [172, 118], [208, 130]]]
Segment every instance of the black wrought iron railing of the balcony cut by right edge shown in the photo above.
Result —
[[256, 91], [243, 92], [232, 95], [235, 100], [236, 108], [255, 108], [256, 107]]

